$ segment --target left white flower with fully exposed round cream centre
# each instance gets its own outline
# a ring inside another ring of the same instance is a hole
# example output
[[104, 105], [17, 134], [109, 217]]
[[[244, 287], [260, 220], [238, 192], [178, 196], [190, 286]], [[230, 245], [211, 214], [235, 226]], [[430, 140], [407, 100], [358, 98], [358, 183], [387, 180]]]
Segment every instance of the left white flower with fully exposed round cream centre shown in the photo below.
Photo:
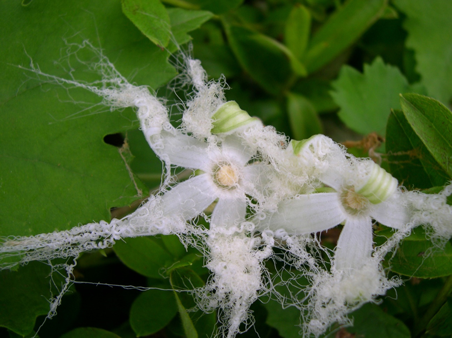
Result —
[[163, 137], [159, 147], [165, 162], [201, 171], [162, 196], [164, 215], [180, 214], [188, 220], [218, 200], [211, 224], [229, 227], [245, 220], [247, 195], [260, 195], [255, 182], [264, 164], [249, 164], [255, 151], [239, 137], [227, 136], [218, 145], [178, 132]]

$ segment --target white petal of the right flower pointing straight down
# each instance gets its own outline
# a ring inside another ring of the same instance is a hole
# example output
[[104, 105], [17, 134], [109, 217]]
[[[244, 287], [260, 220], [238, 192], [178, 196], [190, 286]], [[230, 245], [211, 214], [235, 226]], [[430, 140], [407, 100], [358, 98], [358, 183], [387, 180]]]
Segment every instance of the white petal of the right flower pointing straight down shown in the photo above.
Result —
[[334, 253], [335, 269], [361, 269], [371, 259], [372, 243], [372, 219], [348, 218], [337, 240]]

